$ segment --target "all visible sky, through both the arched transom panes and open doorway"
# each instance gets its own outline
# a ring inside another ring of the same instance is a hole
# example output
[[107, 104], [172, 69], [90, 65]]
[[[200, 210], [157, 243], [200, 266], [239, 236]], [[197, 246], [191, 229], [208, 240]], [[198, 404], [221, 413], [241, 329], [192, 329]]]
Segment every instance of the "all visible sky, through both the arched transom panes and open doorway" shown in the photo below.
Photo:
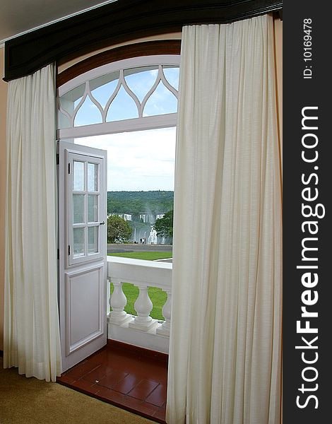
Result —
[[[163, 67], [163, 73], [167, 81], [178, 89], [179, 69]], [[107, 83], [105, 76], [99, 77], [104, 78], [101, 86], [98, 78], [90, 82], [91, 93], [102, 107], [107, 104], [119, 81], [116, 73], [109, 75], [112, 81]], [[131, 73], [129, 70], [125, 81], [138, 100], [143, 102], [157, 76], [158, 66], [157, 69], [146, 67], [138, 73]], [[93, 89], [94, 86], [97, 88]], [[79, 91], [76, 90], [76, 93]], [[81, 92], [76, 95], [75, 107], [80, 102], [79, 96], [83, 95], [83, 87]], [[176, 110], [177, 99], [160, 81], [146, 102], [143, 116], [172, 113]], [[106, 120], [108, 122], [134, 117], [138, 117], [134, 100], [121, 87], [109, 107]], [[75, 126], [100, 122], [99, 110], [86, 98], [76, 114]], [[153, 129], [80, 138], [75, 143], [107, 151], [107, 191], [174, 190], [175, 134], [175, 128]]]

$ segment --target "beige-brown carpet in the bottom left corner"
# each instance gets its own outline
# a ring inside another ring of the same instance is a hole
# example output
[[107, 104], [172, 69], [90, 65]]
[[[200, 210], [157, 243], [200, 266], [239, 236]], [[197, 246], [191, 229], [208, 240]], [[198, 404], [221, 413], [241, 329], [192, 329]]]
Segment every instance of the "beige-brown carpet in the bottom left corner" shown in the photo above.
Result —
[[3, 369], [0, 424], [151, 424], [153, 421], [71, 390]]

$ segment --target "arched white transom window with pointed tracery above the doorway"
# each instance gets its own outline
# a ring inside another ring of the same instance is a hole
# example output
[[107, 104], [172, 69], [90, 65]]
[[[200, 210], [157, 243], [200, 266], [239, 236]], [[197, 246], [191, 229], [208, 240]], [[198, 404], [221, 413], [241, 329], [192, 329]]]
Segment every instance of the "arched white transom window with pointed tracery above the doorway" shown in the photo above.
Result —
[[59, 88], [58, 137], [174, 126], [178, 86], [177, 55], [124, 59], [83, 73]]

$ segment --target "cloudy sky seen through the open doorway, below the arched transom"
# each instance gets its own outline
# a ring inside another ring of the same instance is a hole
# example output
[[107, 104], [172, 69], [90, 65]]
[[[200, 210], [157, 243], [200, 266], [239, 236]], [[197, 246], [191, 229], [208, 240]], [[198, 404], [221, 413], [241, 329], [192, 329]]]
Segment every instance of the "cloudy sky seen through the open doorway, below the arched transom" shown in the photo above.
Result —
[[107, 151], [107, 191], [174, 190], [175, 128], [76, 139]]

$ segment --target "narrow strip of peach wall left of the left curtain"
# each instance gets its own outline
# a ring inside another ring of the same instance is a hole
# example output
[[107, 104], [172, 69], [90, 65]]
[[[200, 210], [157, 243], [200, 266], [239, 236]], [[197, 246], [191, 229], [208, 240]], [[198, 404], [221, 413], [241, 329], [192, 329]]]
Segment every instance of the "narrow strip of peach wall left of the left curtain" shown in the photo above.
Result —
[[6, 192], [6, 104], [7, 86], [4, 75], [4, 48], [0, 48], [0, 350], [4, 350], [4, 221]]

